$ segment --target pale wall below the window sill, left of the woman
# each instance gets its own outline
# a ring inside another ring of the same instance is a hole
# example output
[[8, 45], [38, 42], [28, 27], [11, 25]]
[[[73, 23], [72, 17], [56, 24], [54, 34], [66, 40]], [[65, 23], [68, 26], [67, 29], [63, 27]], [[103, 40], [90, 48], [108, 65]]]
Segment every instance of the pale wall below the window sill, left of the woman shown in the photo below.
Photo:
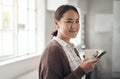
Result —
[[0, 79], [15, 79], [20, 75], [33, 71], [38, 68], [39, 60], [40, 56], [38, 55], [0, 66]]

